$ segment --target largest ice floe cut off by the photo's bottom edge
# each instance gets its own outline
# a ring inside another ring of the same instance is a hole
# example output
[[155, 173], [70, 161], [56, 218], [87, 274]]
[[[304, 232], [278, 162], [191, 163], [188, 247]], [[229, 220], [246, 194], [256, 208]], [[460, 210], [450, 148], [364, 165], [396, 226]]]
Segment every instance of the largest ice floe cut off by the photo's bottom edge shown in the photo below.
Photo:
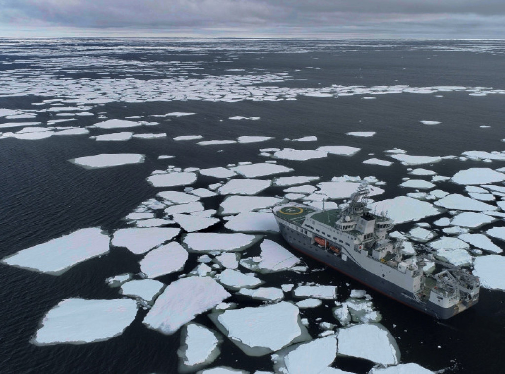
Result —
[[337, 355], [335, 334], [300, 343], [272, 355], [275, 372], [284, 374], [319, 374], [333, 363]]

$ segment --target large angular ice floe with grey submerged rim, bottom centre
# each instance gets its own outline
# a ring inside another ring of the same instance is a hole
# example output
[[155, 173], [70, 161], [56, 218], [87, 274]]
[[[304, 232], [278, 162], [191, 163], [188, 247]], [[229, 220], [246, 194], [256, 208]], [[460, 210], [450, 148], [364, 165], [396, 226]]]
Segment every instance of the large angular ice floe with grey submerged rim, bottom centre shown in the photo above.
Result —
[[263, 356], [292, 343], [310, 339], [307, 329], [301, 324], [299, 309], [283, 301], [212, 313], [209, 317], [223, 334], [249, 356]]

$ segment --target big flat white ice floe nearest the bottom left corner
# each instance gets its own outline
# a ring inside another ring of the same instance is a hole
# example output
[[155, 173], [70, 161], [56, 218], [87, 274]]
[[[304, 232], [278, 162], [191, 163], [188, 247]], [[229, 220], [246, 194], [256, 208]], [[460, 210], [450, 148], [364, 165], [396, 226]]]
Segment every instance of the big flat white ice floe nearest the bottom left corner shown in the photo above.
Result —
[[133, 322], [137, 304], [130, 299], [61, 301], [42, 318], [34, 345], [103, 342], [121, 335]]

